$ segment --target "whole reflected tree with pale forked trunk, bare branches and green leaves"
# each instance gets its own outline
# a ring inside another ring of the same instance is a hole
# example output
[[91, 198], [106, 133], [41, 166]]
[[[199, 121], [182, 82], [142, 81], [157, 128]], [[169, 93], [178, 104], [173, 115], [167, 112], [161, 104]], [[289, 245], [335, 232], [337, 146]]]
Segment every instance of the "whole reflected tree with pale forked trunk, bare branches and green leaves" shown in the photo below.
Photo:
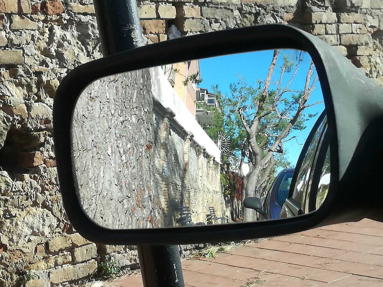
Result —
[[[245, 158], [249, 160], [250, 172], [244, 180], [246, 196], [262, 197], [274, 173], [275, 155], [283, 154], [283, 143], [295, 138], [287, 139], [288, 135], [292, 130], [305, 129], [304, 122], [315, 116], [304, 114], [306, 108], [316, 104], [307, 103], [317, 79], [312, 61], [301, 88], [290, 86], [304, 54], [297, 51], [292, 55], [285, 51], [280, 59], [280, 51], [274, 50], [264, 79], [249, 85], [241, 77], [239, 82], [230, 84], [229, 95], [223, 95], [215, 86], [219, 108], [203, 106], [214, 112], [213, 126], [221, 126], [229, 135], [231, 149], [241, 156], [240, 170]], [[244, 221], [254, 220], [254, 210], [245, 209]]]

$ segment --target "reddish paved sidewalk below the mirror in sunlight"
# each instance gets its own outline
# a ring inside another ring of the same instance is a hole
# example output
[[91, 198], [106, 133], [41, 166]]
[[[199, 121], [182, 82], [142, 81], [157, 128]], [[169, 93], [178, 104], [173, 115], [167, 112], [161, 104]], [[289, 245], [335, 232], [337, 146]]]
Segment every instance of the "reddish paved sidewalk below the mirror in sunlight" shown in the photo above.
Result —
[[[187, 287], [383, 287], [383, 223], [364, 219], [182, 261]], [[140, 275], [110, 287], [142, 287]]]

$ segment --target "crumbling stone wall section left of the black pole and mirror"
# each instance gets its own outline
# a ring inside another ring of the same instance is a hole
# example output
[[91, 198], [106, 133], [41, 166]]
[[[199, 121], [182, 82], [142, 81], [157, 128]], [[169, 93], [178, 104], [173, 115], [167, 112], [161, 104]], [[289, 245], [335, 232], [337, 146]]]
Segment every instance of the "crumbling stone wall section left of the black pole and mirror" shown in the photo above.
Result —
[[69, 70], [101, 57], [93, 5], [2, 0], [0, 46], [0, 286], [29, 270], [28, 286], [74, 282], [96, 270], [97, 247], [62, 207], [52, 104]]

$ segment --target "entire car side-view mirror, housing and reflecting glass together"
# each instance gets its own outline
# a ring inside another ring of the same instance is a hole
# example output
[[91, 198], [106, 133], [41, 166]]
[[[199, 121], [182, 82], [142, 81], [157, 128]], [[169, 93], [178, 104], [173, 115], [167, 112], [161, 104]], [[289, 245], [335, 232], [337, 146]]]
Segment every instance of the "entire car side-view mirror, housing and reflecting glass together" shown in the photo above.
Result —
[[[223, 242], [360, 220], [381, 213], [379, 169], [368, 167], [380, 156], [372, 151], [382, 119], [382, 89], [292, 26], [121, 52], [75, 68], [57, 89], [65, 211], [82, 236], [112, 245]], [[273, 220], [256, 220], [260, 198]], [[290, 218], [278, 217], [283, 202]]]

